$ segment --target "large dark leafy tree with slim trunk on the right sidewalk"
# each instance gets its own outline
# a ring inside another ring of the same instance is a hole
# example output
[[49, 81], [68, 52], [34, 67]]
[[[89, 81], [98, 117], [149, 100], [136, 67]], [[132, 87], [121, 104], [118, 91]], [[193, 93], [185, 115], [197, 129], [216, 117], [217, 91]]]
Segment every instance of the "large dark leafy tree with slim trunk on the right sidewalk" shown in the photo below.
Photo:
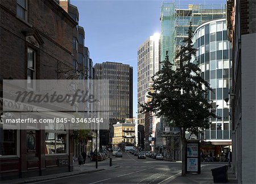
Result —
[[170, 126], [180, 129], [182, 142], [182, 175], [185, 174], [185, 132], [200, 133], [209, 128], [209, 118], [216, 118], [212, 102], [207, 98], [211, 90], [208, 82], [200, 76], [201, 70], [191, 62], [196, 55], [192, 45], [192, 27], [189, 27], [188, 38], [181, 45], [176, 58], [179, 68], [173, 69], [168, 52], [162, 62], [162, 68], [152, 77], [152, 90], [148, 93], [150, 102], [141, 104], [143, 112], [154, 112]]

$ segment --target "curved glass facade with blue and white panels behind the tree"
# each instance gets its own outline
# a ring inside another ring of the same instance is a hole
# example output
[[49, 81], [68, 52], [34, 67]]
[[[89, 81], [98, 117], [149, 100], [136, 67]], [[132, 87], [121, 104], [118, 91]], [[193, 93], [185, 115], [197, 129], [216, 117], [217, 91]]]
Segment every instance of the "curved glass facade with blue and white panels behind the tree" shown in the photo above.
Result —
[[210, 128], [201, 137], [207, 140], [230, 139], [230, 109], [224, 101], [232, 87], [232, 50], [227, 35], [226, 20], [217, 19], [197, 27], [193, 36], [201, 77], [212, 87], [208, 98], [216, 103], [216, 115], [221, 117], [210, 119]]

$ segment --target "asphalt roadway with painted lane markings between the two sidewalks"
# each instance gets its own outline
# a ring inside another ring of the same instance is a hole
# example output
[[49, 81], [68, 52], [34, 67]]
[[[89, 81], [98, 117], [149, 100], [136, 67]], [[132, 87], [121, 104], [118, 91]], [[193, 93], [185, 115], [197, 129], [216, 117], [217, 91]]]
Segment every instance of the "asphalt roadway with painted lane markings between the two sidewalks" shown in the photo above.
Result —
[[[86, 165], [92, 166], [95, 162], [88, 162]], [[98, 168], [106, 168], [108, 165], [109, 159], [98, 162]], [[122, 158], [113, 158], [112, 169], [37, 183], [164, 183], [180, 172], [181, 163], [148, 157], [137, 159], [133, 154], [123, 153]]]

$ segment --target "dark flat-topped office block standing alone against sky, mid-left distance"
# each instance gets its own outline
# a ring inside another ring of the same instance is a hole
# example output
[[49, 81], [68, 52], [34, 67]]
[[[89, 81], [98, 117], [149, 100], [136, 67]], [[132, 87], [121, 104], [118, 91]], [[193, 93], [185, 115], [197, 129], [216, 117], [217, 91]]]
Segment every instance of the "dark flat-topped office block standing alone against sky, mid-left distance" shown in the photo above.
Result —
[[94, 65], [94, 79], [109, 80], [110, 123], [133, 118], [133, 67], [120, 62]]

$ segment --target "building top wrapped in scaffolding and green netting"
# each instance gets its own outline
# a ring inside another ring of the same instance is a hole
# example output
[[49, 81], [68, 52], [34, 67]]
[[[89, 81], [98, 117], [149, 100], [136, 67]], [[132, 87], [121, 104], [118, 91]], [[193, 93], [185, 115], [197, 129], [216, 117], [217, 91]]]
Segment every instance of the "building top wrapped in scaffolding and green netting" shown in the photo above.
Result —
[[[160, 61], [166, 57], [168, 51], [169, 60], [175, 59], [176, 49], [182, 41], [188, 37], [189, 23], [192, 23], [193, 31], [197, 26], [209, 20], [225, 18], [225, 5], [188, 5], [179, 6], [175, 3], [163, 2], [160, 12], [161, 36], [160, 36]], [[176, 68], [178, 60], [174, 62]]]

